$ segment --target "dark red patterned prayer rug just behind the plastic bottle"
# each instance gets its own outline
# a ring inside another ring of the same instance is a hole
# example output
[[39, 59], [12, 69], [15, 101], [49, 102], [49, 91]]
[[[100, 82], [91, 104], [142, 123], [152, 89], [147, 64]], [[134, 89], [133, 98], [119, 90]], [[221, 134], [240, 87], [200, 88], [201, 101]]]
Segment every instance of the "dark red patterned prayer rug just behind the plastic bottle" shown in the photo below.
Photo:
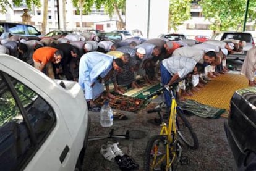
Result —
[[[113, 109], [119, 109], [122, 111], [137, 112], [145, 106], [145, 99], [133, 98], [128, 96], [116, 95], [115, 98], [109, 100], [109, 105]], [[107, 99], [98, 98], [95, 100], [96, 103], [103, 105]]]

